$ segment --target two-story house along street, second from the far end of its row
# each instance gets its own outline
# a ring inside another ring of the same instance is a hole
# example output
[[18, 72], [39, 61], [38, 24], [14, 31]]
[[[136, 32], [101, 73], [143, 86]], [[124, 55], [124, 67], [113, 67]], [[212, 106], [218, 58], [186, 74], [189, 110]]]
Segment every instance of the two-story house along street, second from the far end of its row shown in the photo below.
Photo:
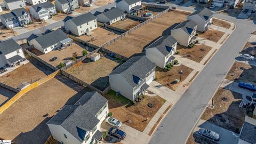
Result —
[[188, 46], [196, 39], [197, 24], [193, 20], [181, 22], [171, 30], [171, 35], [178, 40], [180, 45]]

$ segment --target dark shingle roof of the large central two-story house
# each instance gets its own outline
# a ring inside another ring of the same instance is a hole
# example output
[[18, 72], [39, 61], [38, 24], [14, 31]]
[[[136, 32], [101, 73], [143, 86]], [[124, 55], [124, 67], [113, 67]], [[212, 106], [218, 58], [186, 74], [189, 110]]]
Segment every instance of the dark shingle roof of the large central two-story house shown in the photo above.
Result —
[[113, 70], [109, 75], [121, 75], [132, 87], [138, 84], [139, 79], [144, 79], [156, 65], [145, 55], [132, 57], [123, 65]]

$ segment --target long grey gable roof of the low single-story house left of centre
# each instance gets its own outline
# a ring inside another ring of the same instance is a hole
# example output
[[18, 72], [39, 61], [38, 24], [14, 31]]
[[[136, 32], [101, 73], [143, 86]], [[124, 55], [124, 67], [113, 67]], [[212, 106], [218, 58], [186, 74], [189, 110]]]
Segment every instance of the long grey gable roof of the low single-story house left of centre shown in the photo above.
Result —
[[67, 39], [68, 36], [61, 30], [57, 29], [55, 31], [46, 30], [42, 34], [32, 34], [28, 37], [28, 41], [35, 39], [35, 41], [40, 44], [43, 48], [49, 47], [53, 44], [57, 44], [64, 39]]

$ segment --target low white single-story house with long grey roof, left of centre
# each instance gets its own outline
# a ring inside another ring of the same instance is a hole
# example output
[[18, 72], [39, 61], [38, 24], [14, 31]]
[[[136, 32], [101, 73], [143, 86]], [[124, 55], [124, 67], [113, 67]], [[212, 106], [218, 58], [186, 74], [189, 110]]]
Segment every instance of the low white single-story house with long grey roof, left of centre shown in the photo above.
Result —
[[30, 45], [42, 53], [48, 53], [61, 47], [70, 46], [73, 40], [69, 38], [61, 29], [46, 30], [42, 34], [32, 34], [27, 38]]

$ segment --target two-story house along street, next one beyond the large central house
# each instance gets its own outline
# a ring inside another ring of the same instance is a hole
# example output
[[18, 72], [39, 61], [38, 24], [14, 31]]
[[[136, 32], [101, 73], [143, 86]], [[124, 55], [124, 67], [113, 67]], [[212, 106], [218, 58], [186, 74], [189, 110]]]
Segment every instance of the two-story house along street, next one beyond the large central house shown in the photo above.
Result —
[[176, 52], [177, 43], [171, 35], [162, 36], [146, 47], [146, 57], [156, 66], [164, 68], [174, 60], [173, 54]]

